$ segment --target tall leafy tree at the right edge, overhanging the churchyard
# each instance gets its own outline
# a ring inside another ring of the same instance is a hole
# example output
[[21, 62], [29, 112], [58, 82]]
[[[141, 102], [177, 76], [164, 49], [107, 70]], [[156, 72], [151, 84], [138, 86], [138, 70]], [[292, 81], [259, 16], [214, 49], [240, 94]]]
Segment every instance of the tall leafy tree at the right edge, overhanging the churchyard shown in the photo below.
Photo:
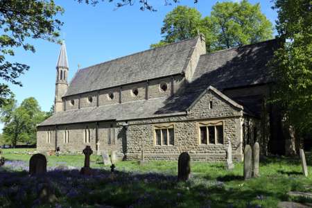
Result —
[[297, 135], [312, 132], [312, 15], [309, 0], [275, 0], [284, 44], [272, 60], [277, 85], [272, 102], [284, 109]]

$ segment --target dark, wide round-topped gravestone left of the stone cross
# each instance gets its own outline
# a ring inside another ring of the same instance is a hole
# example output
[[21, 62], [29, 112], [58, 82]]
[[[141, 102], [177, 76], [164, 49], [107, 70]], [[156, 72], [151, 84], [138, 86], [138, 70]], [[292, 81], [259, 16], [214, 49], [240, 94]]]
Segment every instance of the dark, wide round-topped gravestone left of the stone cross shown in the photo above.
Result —
[[37, 153], [29, 160], [29, 174], [41, 175], [46, 173], [46, 156]]

